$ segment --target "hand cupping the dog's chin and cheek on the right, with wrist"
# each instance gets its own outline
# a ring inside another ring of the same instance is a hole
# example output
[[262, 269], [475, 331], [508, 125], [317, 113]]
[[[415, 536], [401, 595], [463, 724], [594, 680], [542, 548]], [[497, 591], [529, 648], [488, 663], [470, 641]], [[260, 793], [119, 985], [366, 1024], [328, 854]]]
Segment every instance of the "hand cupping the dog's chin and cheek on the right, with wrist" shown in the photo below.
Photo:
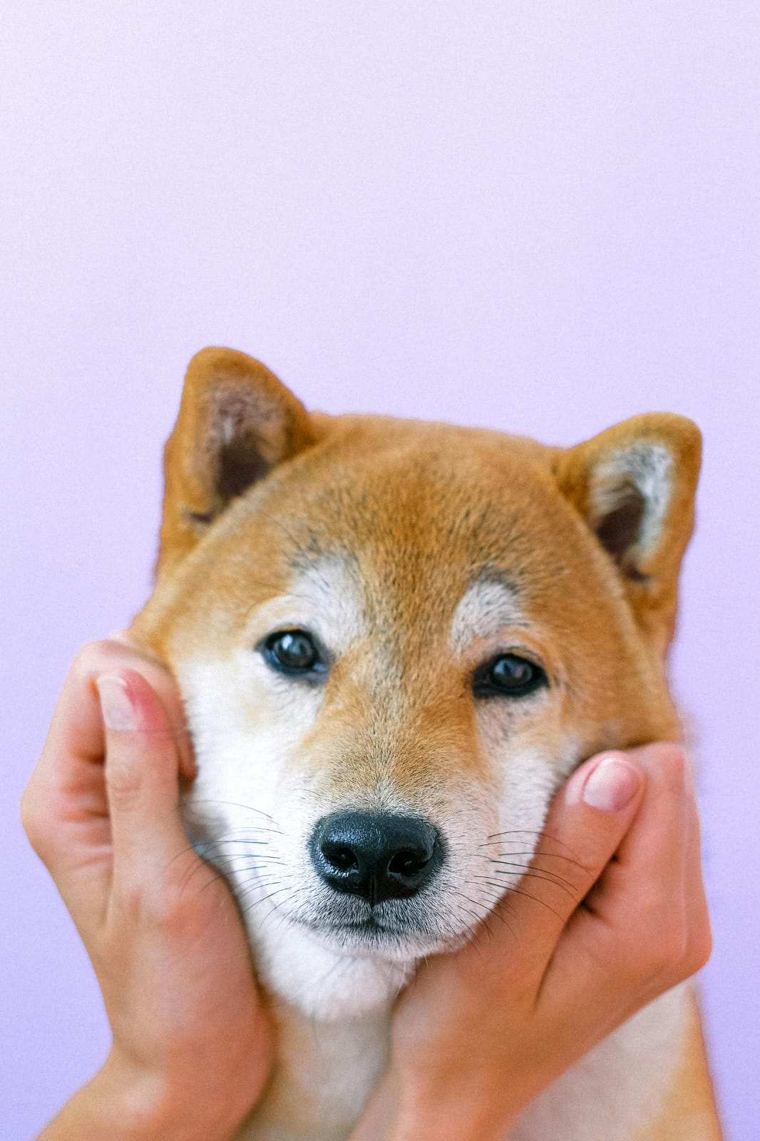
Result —
[[529, 893], [496, 906], [490, 938], [430, 960], [402, 994], [389, 1069], [353, 1141], [503, 1139], [541, 1090], [710, 955], [696, 801], [676, 745], [581, 766], [532, 872]]

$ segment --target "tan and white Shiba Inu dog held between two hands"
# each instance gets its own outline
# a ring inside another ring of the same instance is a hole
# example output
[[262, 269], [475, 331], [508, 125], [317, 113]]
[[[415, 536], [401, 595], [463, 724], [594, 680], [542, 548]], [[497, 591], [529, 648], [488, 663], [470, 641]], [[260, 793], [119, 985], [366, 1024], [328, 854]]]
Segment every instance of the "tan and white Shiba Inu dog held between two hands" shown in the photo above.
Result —
[[[193, 358], [132, 634], [179, 681], [188, 835], [236, 893], [277, 1023], [241, 1139], [347, 1138], [399, 988], [517, 888], [559, 784], [679, 738], [663, 659], [698, 467], [677, 415], [563, 450], [307, 413], [242, 353]], [[519, 843], [496, 874], [498, 834]], [[514, 1133], [719, 1135], [687, 986]]]

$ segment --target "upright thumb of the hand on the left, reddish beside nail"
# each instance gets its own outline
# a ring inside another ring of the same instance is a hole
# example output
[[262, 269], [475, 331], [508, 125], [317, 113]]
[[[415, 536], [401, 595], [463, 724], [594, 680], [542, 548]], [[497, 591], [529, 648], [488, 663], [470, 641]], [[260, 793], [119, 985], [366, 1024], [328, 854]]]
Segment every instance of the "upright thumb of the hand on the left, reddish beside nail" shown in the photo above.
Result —
[[179, 756], [167, 712], [135, 670], [97, 679], [106, 737], [114, 892], [159, 887], [189, 850], [179, 816]]

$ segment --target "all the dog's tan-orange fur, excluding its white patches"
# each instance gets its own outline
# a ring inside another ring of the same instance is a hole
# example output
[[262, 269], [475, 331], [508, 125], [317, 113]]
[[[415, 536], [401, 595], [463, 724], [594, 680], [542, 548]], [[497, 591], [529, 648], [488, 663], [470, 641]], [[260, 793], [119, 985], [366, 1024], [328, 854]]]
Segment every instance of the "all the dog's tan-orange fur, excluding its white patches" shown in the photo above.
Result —
[[[494, 750], [518, 736], [524, 753], [551, 758], [556, 786], [601, 748], [679, 737], [663, 657], [698, 467], [698, 431], [680, 416], [638, 416], [564, 451], [448, 424], [309, 415], [258, 362], [207, 349], [167, 445], [157, 581], [132, 632], [178, 673], [203, 656], [231, 659], [267, 632], [257, 615], [297, 591], [302, 566], [339, 558], [369, 634], [338, 655], [294, 776], [335, 803], [388, 787], [435, 819], [456, 790], [495, 796]], [[665, 468], [660, 513], [628, 542], [648, 518], [636, 480]], [[470, 677], [493, 639], [452, 649], [450, 631], [475, 581], [514, 588], [523, 620], [516, 612], [501, 638], [543, 663], [540, 712], [474, 704]], [[251, 698], [246, 723], [265, 715]], [[677, 1123], [715, 1122], [711, 1107], [692, 1027], [658, 1132], [642, 1136], [692, 1136]], [[705, 1141], [719, 1135], [711, 1128]]]

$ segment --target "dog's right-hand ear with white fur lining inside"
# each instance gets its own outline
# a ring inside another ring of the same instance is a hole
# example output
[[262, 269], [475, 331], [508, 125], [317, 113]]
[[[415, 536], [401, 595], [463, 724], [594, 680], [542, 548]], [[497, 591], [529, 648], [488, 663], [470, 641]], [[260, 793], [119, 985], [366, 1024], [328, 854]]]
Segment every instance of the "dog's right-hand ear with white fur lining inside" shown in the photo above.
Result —
[[555, 474], [623, 580], [661, 653], [672, 637], [678, 572], [694, 525], [701, 435], [685, 416], [633, 416], [560, 452]]

